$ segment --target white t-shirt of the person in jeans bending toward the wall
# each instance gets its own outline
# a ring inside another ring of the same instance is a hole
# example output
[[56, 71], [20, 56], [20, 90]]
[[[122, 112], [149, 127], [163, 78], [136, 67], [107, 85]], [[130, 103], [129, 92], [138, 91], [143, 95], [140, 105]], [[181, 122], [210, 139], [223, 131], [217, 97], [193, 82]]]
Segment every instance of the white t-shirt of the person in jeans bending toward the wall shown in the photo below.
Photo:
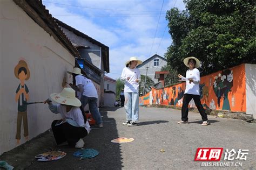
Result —
[[97, 90], [90, 79], [87, 79], [85, 76], [82, 75], [77, 75], [76, 85], [78, 84], [83, 85], [83, 96], [98, 98]]

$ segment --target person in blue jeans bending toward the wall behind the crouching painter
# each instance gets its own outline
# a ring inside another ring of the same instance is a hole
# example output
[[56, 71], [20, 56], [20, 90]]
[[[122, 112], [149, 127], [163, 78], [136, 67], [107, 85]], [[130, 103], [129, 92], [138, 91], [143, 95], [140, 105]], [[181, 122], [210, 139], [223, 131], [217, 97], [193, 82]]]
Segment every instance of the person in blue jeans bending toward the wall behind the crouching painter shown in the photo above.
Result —
[[89, 110], [96, 121], [96, 126], [103, 128], [102, 116], [97, 107], [98, 93], [94, 84], [81, 73], [80, 68], [75, 67], [72, 72], [68, 73], [72, 74], [73, 84], [79, 88], [79, 93], [82, 94], [80, 98], [82, 108], [84, 109], [86, 104], [89, 104]]

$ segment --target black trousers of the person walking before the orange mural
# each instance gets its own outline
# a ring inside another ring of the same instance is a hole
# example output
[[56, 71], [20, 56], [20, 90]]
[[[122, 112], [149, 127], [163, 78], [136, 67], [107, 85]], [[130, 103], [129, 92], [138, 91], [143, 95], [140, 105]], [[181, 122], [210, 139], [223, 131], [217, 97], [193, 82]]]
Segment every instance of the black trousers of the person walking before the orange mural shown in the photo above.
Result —
[[203, 107], [203, 105], [201, 104], [201, 101], [200, 101], [200, 96], [199, 95], [191, 95], [191, 94], [184, 94], [183, 96], [183, 105], [182, 105], [182, 108], [181, 108], [181, 120], [182, 121], [188, 121], [188, 103], [190, 103], [190, 101], [194, 100], [194, 103], [196, 104], [197, 106], [197, 109], [203, 119], [203, 121], [207, 121], [207, 115], [206, 115], [206, 112], [205, 112], [205, 109]]

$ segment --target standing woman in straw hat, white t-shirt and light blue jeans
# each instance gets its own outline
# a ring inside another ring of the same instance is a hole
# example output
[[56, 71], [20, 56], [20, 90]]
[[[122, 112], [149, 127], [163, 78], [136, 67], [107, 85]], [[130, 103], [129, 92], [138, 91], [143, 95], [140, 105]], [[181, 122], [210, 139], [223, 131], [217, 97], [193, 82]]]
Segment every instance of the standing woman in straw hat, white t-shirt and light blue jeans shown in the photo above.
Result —
[[137, 65], [142, 64], [135, 56], [125, 62], [126, 67], [123, 69], [121, 80], [125, 80], [124, 108], [126, 112], [126, 122], [123, 125], [136, 126], [139, 120], [139, 81], [140, 72], [136, 68]]

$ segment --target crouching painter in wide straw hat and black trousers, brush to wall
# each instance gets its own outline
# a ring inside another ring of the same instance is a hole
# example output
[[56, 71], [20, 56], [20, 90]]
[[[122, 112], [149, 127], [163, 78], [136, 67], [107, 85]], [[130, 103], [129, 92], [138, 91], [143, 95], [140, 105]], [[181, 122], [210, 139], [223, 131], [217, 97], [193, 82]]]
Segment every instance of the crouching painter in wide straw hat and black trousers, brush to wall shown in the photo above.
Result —
[[64, 88], [61, 93], [53, 93], [50, 97], [59, 104], [52, 104], [49, 99], [45, 103], [49, 104], [49, 109], [54, 114], [62, 116], [61, 120], [55, 120], [51, 124], [57, 145], [67, 141], [71, 147], [83, 147], [82, 138], [87, 136], [91, 129], [82, 109], [79, 108], [81, 102], [76, 98], [75, 90]]

